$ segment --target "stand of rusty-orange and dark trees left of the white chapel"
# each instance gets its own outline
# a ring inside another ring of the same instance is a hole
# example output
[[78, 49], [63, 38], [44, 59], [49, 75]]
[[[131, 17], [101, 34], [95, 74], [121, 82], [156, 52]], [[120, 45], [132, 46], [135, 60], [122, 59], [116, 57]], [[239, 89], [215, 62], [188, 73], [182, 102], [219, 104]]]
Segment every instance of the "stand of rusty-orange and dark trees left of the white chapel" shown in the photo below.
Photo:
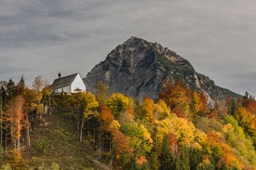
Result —
[[0, 163], [22, 161], [21, 148], [30, 147], [30, 133], [49, 105], [50, 87], [43, 78], [34, 79], [32, 88], [24, 78], [15, 84], [9, 79], [0, 89]]

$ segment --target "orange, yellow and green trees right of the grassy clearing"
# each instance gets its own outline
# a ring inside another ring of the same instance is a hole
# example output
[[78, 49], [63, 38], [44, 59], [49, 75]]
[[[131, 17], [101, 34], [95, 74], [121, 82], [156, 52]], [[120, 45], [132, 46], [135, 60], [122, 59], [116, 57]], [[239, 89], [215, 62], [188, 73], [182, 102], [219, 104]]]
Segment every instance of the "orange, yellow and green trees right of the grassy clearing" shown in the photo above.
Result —
[[114, 93], [101, 82], [90, 92], [52, 98], [52, 108], [77, 124], [99, 159], [114, 169], [255, 169], [256, 101], [208, 99], [177, 81], [159, 99]]

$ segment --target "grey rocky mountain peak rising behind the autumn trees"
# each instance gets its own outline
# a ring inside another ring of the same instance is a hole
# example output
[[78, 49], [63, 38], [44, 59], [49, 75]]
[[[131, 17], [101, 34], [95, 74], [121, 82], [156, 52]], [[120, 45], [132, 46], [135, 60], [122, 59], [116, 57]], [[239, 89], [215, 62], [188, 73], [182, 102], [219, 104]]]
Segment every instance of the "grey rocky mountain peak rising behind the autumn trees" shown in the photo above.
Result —
[[102, 81], [109, 92], [121, 92], [134, 98], [157, 99], [161, 83], [168, 78], [171, 83], [182, 80], [190, 89], [203, 91], [209, 98], [239, 97], [227, 89], [214, 84], [209, 77], [195, 72], [188, 60], [157, 43], [130, 37], [117, 46], [104, 61], [88, 72], [85, 83], [89, 91]]

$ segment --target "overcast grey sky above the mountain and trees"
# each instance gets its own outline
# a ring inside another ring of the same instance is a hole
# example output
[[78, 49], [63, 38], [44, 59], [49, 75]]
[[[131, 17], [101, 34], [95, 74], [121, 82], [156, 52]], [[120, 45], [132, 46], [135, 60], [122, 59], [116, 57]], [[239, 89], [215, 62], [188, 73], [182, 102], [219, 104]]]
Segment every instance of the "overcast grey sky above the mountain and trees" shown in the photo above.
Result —
[[87, 73], [130, 36], [256, 95], [255, 0], [1, 0], [0, 80]]

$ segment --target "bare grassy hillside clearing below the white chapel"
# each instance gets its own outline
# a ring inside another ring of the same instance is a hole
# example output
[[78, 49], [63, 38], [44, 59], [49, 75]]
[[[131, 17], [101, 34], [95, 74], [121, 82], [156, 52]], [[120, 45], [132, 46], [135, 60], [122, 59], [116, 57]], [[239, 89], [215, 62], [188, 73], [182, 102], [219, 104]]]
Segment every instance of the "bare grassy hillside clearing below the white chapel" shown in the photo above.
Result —
[[[58, 163], [61, 169], [107, 169], [97, 161], [97, 152], [88, 141], [78, 141], [74, 122], [64, 120], [59, 115], [46, 115], [43, 122], [38, 123], [31, 134], [32, 147], [24, 150], [23, 158], [29, 160], [30, 166]], [[35, 150], [36, 143], [44, 137], [52, 142], [46, 156]]]

